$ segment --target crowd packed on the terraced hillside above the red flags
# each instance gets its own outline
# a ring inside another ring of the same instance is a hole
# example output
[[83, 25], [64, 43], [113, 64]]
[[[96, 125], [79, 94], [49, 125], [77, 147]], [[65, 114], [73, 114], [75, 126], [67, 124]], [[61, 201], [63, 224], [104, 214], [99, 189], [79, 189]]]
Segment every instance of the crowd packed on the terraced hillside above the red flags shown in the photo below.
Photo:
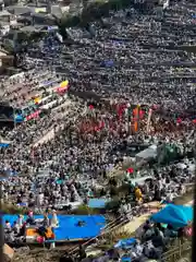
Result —
[[[72, 46], [50, 40], [48, 56], [47, 50], [42, 55], [42, 48], [35, 48], [38, 58], [46, 57], [42, 64], [69, 76], [73, 90], [93, 91], [110, 99], [160, 104], [172, 110], [180, 110], [179, 105], [192, 108], [196, 57], [175, 48], [193, 40], [192, 16], [193, 10], [184, 7], [182, 11], [179, 5], [166, 10], [161, 17], [126, 10], [94, 23], [83, 37], [79, 29], [69, 31], [77, 40]], [[181, 24], [185, 19], [188, 23]]]

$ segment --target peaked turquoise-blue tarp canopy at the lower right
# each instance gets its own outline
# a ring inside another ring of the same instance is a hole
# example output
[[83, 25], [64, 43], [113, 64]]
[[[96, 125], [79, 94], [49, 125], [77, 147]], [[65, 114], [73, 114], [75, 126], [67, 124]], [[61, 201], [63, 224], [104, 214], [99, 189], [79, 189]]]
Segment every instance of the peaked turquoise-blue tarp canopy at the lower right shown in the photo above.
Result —
[[193, 221], [193, 207], [169, 204], [151, 216], [157, 223], [170, 224], [175, 228], [184, 227]]

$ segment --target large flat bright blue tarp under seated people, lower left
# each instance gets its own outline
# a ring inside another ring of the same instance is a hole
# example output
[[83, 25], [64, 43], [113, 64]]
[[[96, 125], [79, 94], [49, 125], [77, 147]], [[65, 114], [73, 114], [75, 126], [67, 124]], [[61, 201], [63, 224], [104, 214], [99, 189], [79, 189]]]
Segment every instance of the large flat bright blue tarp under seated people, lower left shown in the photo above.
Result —
[[[34, 217], [35, 219], [44, 218], [42, 215]], [[17, 215], [3, 215], [3, 225], [5, 221], [12, 225], [16, 219]], [[106, 226], [106, 218], [102, 215], [58, 215], [58, 219], [59, 227], [54, 229], [56, 241], [93, 238], [98, 236]], [[79, 221], [85, 223], [84, 226], [77, 226]]]

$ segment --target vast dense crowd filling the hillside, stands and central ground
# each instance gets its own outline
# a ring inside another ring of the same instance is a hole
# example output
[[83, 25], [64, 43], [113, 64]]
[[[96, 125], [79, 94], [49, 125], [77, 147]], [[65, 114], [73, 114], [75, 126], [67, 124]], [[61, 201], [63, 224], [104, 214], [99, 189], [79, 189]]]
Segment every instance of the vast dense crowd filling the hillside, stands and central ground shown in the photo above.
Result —
[[[9, 174], [1, 182], [5, 201], [57, 209], [96, 198], [98, 188], [110, 199], [108, 174], [143, 144], [176, 144], [177, 164], [148, 165], [149, 183], [133, 184], [132, 175], [123, 179], [134, 203], [172, 202], [185, 192], [195, 168], [196, 56], [182, 46], [194, 40], [193, 11], [184, 3], [161, 15], [132, 8], [111, 12], [88, 32], [70, 28], [73, 45], [59, 41], [54, 32], [32, 44], [23, 58], [29, 70], [4, 80], [3, 98], [16, 111], [27, 108], [26, 116], [44, 114], [0, 130], [10, 142], [0, 148], [0, 168]], [[58, 94], [64, 80], [69, 91]], [[29, 105], [35, 97], [42, 102]], [[140, 174], [146, 167], [147, 162]], [[114, 180], [113, 186], [121, 186]], [[130, 198], [119, 209], [130, 214]]]

